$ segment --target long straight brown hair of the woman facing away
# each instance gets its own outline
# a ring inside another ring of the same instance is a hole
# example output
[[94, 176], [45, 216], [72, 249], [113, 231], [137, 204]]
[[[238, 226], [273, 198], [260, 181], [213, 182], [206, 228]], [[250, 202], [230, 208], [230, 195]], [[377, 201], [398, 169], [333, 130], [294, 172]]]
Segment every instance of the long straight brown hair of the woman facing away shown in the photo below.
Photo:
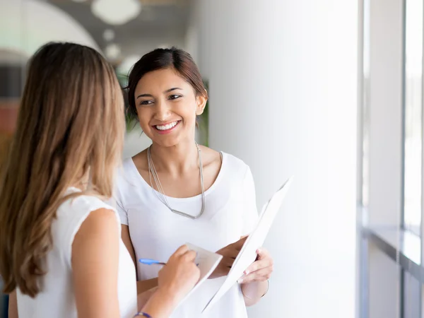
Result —
[[94, 49], [49, 43], [30, 60], [16, 134], [0, 184], [0, 274], [4, 290], [42, 288], [51, 225], [66, 189], [90, 175], [112, 196], [122, 153], [122, 91]]

